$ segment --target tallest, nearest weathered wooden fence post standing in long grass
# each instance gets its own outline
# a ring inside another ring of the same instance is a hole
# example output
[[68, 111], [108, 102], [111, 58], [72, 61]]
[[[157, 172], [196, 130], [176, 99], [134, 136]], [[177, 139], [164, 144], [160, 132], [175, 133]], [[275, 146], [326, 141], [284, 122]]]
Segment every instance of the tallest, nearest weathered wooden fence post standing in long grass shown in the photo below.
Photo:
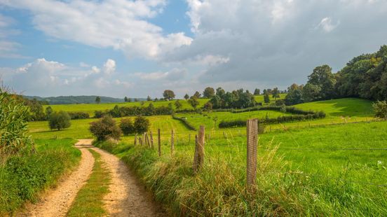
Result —
[[258, 119], [247, 120], [247, 191], [257, 179]]

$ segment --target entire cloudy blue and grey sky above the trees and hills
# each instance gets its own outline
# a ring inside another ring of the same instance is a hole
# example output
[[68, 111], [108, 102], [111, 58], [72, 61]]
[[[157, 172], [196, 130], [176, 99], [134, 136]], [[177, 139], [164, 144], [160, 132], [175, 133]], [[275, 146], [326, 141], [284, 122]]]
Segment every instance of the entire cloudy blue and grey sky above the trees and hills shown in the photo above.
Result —
[[386, 20], [387, 0], [0, 0], [0, 76], [45, 97], [285, 89], [378, 50]]

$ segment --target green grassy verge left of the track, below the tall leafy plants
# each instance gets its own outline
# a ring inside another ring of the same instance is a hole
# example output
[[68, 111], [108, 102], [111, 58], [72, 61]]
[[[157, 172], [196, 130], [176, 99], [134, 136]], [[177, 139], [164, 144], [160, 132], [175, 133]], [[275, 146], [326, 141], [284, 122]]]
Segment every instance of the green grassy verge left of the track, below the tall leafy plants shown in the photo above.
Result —
[[38, 139], [36, 153], [15, 155], [0, 166], [0, 216], [12, 214], [26, 201], [57, 183], [81, 160], [73, 139]]

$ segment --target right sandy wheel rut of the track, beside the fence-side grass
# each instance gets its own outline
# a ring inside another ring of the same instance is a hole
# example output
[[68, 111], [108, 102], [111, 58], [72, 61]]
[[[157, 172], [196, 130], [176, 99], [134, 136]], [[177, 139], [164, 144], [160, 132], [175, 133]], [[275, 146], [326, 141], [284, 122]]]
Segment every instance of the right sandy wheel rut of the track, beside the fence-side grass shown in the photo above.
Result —
[[93, 148], [111, 172], [110, 193], [104, 197], [109, 216], [166, 216], [151, 195], [115, 155]]

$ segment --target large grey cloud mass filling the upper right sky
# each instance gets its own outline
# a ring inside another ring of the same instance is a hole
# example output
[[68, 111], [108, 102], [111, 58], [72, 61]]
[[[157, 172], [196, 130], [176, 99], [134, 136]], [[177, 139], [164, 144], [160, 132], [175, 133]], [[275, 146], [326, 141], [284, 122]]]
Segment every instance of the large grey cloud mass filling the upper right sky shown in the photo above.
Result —
[[315, 66], [330, 64], [337, 70], [351, 57], [387, 43], [387, 29], [380, 28], [387, 1], [187, 2], [194, 41], [163, 61], [222, 57], [207, 64], [202, 83], [285, 88], [304, 82]]

